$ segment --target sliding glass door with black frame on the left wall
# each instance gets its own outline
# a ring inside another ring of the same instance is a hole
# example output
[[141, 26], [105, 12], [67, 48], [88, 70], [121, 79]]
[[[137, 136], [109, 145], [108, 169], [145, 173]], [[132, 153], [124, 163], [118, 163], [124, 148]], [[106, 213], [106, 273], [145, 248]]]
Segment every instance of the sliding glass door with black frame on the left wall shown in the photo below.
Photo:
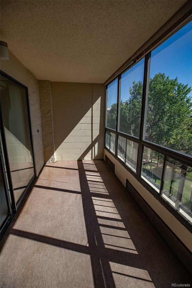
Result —
[[17, 208], [20, 205], [35, 178], [27, 97], [25, 86], [1, 73], [2, 223], [7, 213], [13, 212], [13, 206]]

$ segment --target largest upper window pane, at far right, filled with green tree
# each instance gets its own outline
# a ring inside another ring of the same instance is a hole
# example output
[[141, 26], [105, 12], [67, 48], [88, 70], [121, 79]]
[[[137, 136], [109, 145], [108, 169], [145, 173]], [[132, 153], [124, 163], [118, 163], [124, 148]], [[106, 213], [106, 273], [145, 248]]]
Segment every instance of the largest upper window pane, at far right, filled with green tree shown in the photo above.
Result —
[[151, 53], [145, 140], [192, 155], [192, 22]]

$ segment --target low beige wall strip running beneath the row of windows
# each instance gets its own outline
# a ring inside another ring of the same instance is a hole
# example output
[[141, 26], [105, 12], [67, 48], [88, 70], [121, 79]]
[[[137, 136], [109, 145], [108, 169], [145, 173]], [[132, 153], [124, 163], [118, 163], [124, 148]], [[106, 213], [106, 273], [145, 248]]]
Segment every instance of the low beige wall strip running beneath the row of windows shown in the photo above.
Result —
[[106, 149], [104, 154], [115, 164], [115, 174], [126, 186], [126, 179], [134, 186], [138, 193], [145, 199], [158, 216], [176, 234], [176, 236], [192, 252], [192, 235], [137, 179], [123, 167]]

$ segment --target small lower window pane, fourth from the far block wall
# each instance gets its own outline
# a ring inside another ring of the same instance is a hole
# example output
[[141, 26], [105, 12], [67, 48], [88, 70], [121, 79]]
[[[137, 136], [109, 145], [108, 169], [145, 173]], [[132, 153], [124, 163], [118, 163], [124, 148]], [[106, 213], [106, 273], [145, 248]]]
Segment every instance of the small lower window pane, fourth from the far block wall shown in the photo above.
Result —
[[136, 173], [138, 144], [127, 139], [125, 164]]

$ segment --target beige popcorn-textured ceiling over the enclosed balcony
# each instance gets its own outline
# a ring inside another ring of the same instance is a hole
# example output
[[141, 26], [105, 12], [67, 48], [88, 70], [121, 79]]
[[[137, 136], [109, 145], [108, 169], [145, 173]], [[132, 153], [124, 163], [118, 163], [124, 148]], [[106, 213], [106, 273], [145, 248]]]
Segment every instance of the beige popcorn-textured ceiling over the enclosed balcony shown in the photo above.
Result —
[[186, 2], [1, 0], [1, 40], [38, 79], [104, 83]]

